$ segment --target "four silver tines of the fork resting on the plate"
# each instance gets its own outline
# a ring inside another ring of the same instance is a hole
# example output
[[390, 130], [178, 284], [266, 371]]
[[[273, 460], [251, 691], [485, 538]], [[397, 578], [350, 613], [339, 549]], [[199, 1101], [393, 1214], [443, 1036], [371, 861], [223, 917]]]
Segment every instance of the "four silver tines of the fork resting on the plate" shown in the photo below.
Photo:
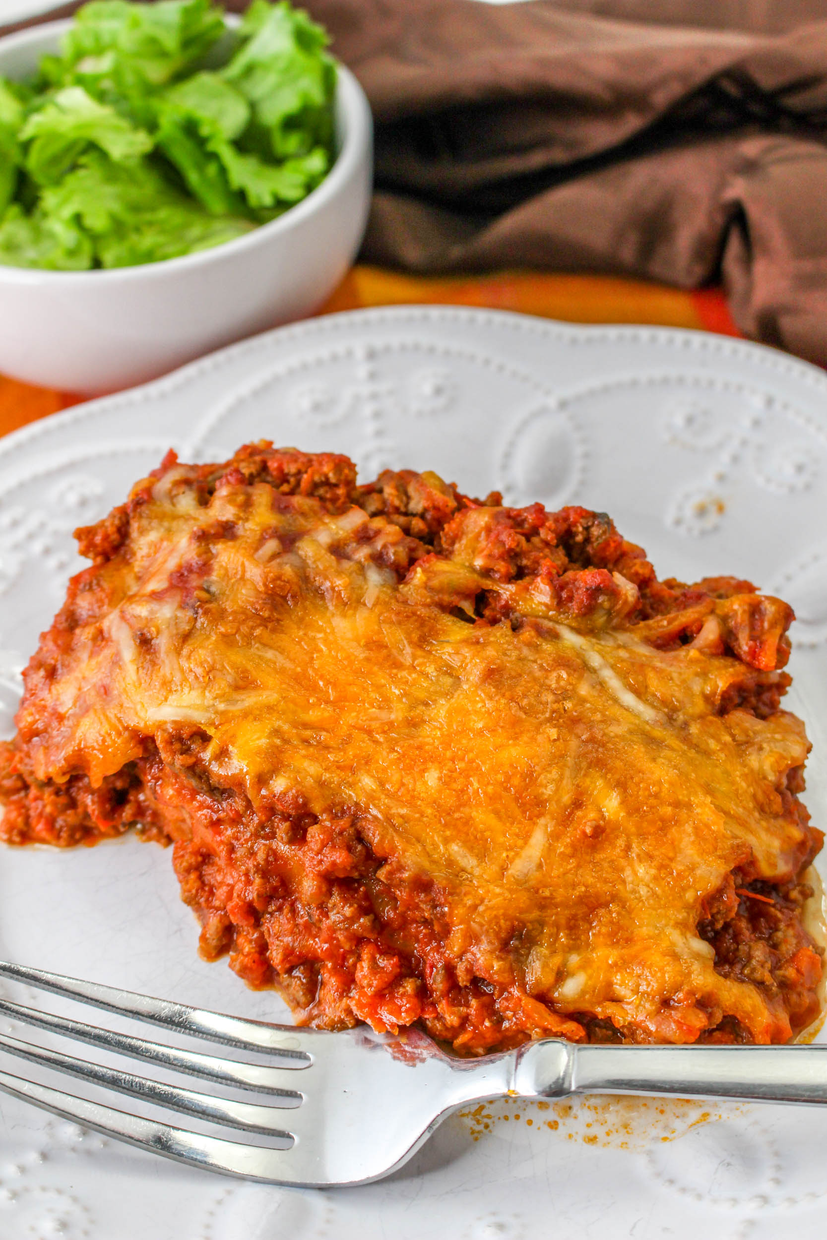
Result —
[[0, 999], [0, 1012], [21, 1024], [87, 1043], [103, 1052], [141, 1059], [167, 1073], [184, 1073], [232, 1090], [254, 1091], [265, 1095], [267, 1102], [239, 1101], [138, 1076], [102, 1063], [22, 1042], [10, 1034], [0, 1034], [0, 1048], [7, 1053], [38, 1066], [76, 1076], [87, 1084], [117, 1090], [141, 1102], [177, 1111], [198, 1121], [268, 1137], [269, 1141], [267, 1146], [262, 1146], [191, 1132], [0, 1071], [0, 1089], [5, 1092], [67, 1120], [211, 1171], [268, 1182], [310, 1182], [306, 1178], [307, 1158], [303, 1157], [301, 1166], [298, 1166], [291, 1156], [296, 1141], [305, 1135], [301, 1130], [306, 1128], [306, 1117], [303, 1114], [306, 1095], [296, 1086], [300, 1086], [304, 1073], [314, 1063], [314, 1050], [321, 1049], [321, 1043], [329, 1035], [314, 1030], [296, 1030], [286, 1025], [244, 1021], [6, 962], [0, 962], [0, 976], [100, 1008], [118, 1017], [160, 1025], [176, 1035], [184, 1034], [219, 1047], [252, 1050], [259, 1059], [265, 1053], [267, 1064], [229, 1059], [165, 1045], [55, 1016], [51, 1012], [36, 1011], [10, 999]]

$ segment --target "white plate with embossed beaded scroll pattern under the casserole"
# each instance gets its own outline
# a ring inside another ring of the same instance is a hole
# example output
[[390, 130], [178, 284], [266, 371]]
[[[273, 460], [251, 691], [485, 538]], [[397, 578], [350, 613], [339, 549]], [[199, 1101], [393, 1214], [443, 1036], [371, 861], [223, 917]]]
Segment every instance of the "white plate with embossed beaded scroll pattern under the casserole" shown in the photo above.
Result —
[[[259, 336], [7, 436], [6, 727], [19, 670], [79, 567], [73, 526], [119, 502], [170, 445], [185, 459], [222, 459], [262, 436], [345, 450], [365, 477], [429, 466], [471, 492], [501, 487], [512, 502], [582, 501], [611, 512], [663, 575], [730, 572], [782, 594], [798, 613], [790, 704], [815, 746], [807, 801], [827, 821], [827, 377], [694, 332], [449, 308], [357, 311]], [[4, 957], [284, 1018], [275, 997], [198, 960], [192, 915], [155, 844], [0, 856]], [[449, 1121], [392, 1180], [303, 1193], [191, 1172], [0, 1095], [0, 1236], [825, 1235], [827, 1112], [744, 1106], [694, 1122], [701, 1106], [663, 1111], [500, 1104]]]

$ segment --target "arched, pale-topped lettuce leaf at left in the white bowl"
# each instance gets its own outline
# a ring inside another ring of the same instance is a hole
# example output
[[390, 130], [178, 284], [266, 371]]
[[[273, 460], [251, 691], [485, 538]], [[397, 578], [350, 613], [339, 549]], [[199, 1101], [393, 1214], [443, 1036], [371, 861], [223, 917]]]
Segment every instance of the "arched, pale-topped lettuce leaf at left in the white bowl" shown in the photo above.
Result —
[[89, 146], [99, 146], [118, 164], [139, 159], [153, 139], [114, 108], [98, 103], [78, 86], [58, 91], [20, 130], [29, 144], [25, 166], [38, 185], [56, 185]]

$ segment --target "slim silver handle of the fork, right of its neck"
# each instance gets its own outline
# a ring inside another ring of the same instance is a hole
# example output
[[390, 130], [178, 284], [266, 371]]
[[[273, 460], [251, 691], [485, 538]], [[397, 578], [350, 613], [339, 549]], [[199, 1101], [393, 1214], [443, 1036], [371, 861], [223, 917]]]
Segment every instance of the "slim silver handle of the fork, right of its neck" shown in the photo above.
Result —
[[827, 1047], [596, 1047], [538, 1042], [516, 1071], [517, 1092], [653, 1094], [754, 1102], [827, 1102]]

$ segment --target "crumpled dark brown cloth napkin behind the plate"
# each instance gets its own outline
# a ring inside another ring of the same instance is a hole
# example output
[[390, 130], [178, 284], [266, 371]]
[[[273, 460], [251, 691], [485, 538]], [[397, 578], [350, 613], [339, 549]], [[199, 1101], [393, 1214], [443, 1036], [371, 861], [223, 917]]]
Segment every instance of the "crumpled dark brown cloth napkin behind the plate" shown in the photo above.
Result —
[[723, 278], [827, 365], [827, 0], [304, 6], [373, 107], [365, 260]]

